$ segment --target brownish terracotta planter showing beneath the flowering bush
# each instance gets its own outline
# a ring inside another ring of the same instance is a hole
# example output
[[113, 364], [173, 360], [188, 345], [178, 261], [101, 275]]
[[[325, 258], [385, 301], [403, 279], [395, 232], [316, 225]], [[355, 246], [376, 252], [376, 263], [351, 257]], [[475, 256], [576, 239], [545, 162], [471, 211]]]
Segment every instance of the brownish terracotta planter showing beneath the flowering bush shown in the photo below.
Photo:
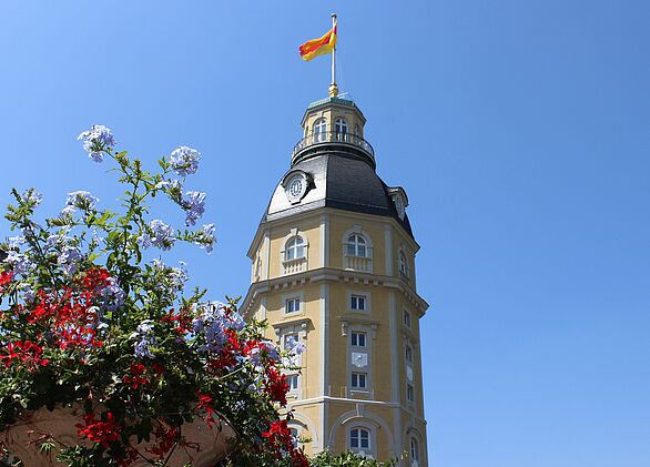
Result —
[[[81, 406], [58, 407], [50, 412], [47, 408], [26, 414], [16, 424], [4, 432], [0, 432], [2, 441], [16, 457], [20, 458], [26, 467], [63, 467], [65, 464], [54, 459], [55, 453], [42, 454], [39, 445], [45, 437], [51, 437], [65, 446], [90, 446], [88, 440], [81, 440], [77, 435], [75, 425], [81, 423], [84, 412]], [[225, 418], [215, 419], [212, 428], [204, 419], [196, 419], [192, 424], [182, 426], [182, 435], [193, 448], [176, 447], [167, 466], [182, 466], [192, 463], [192, 467], [210, 467], [223, 459], [230, 451], [227, 440], [235, 436], [232, 426]], [[148, 458], [154, 456], [146, 453], [153, 443], [141, 443], [133, 446]], [[132, 464], [134, 467], [151, 466], [140, 458]]]

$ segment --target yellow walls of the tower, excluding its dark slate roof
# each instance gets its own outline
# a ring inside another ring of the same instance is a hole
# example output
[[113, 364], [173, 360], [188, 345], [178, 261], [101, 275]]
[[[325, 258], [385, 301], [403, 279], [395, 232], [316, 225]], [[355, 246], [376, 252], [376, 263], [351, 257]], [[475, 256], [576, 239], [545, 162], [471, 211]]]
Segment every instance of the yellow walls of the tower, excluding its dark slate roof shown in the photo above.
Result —
[[[308, 110], [305, 134], [318, 119], [342, 115], [363, 134], [360, 111], [336, 103]], [[351, 235], [366, 242], [363, 255], [349, 254]], [[295, 240], [303, 250], [290, 252]], [[306, 345], [287, 408], [309, 439], [307, 454], [352, 449], [427, 465], [419, 318], [428, 305], [416, 292], [418, 247], [395, 217], [328, 206], [260, 225], [242, 309], [267, 319], [278, 345], [288, 337]]]

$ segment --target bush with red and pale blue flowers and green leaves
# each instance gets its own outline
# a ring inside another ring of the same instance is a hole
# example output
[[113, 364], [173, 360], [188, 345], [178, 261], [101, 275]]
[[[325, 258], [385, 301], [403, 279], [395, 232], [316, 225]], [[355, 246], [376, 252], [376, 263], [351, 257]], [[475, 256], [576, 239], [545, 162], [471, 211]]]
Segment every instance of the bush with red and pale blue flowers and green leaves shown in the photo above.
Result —
[[[105, 126], [79, 139], [91, 160], [116, 164], [123, 210], [78, 191], [39, 223], [42, 196], [12, 191], [6, 217], [17, 235], [0, 245], [0, 432], [43, 407], [78, 406], [70, 430], [79, 443], [34, 434], [33, 448], [71, 466], [166, 465], [175, 449], [196, 449], [185, 424], [217, 429], [225, 420], [236, 435], [222, 465], [308, 465], [287, 428], [291, 413], [280, 415], [283, 368], [302, 346], [280, 352], [263, 323], [243, 321], [236, 301], [187, 292], [183, 264], [144, 258], [179, 242], [212, 251], [213, 224], [189, 229], [205, 210], [206, 194], [184, 189], [200, 153], [180, 146], [148, 172], [114, 149]], [[184, 229], [150, 219], [159, 195], [184, 212]], [[0, 446], [0, 464], [2, 449], [10, 459]]]

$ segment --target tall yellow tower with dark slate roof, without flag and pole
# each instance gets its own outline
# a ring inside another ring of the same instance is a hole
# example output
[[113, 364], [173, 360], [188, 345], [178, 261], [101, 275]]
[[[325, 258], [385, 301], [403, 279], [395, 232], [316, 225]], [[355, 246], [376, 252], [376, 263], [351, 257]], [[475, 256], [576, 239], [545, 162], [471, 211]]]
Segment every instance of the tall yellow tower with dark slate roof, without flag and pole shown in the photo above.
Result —
[[287, 372], [292, 429], [308, 455], [354, 450], [426, 466], [415, 242], [399, 186], [375, 173], [366, 119], [347, 99], [312, 103], [304, 138], [255, 234], [246, 316], [278, 345], [304, 343]]

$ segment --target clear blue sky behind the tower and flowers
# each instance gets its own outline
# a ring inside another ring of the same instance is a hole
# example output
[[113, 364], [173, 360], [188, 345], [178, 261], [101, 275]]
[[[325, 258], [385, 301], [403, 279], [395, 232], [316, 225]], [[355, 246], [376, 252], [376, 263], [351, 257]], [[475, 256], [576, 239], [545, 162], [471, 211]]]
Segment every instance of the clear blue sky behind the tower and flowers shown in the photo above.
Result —
[[[638, 0], [0, 2], [0, 204], [116, 189], [93, 123], [149, 166], [186, 144], [217, 225], [197, 283], [245, 252], [326, 97], [297, 45], [339, 14], [339, 87], [422, 250], [436, 467], [650, 466], [650, 3]], [[182, 221], [176, 211], [162, 212]], [[0, 237], [9, 235], [0, 222]]]

